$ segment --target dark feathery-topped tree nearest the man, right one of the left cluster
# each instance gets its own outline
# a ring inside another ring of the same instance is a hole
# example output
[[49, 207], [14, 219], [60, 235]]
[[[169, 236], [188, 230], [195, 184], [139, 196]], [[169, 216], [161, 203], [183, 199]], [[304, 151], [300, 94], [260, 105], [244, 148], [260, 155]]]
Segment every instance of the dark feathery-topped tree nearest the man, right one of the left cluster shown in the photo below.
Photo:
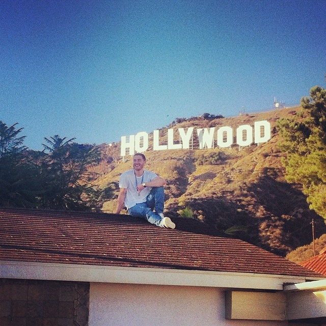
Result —
[[94, 192], [97, 192], [93, 184], [97, 174], [90, 172], [90, 168], [99, 164], [100, 152], [93, 145], [73, 143], [74, 138], [65, 140], [59, 135], [51, 137], [51, 140], [45, 138], [50, 146], [43, 144], [43, 147], [50, 153], [40, 165], [46, 175], [42, 206], [55, 209], [90, 208], [95, 204]]

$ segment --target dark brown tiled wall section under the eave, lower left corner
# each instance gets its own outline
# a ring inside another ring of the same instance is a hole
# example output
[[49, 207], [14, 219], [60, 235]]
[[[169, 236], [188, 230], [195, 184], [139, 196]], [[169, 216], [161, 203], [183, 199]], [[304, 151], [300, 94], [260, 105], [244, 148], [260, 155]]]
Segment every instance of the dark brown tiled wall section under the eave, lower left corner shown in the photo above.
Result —
[[0, 279], [1, 326], [87, 326], [88, 282]]

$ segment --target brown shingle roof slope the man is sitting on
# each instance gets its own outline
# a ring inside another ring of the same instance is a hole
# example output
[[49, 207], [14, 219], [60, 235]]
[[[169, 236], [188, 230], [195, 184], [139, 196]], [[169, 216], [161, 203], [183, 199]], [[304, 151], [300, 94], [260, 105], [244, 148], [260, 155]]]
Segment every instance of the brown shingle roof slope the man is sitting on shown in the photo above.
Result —
[[0, 209], [0, 259], [320, 277], [239, 239], [178, 230], [174, 221], [171, 230], [129, 215]]

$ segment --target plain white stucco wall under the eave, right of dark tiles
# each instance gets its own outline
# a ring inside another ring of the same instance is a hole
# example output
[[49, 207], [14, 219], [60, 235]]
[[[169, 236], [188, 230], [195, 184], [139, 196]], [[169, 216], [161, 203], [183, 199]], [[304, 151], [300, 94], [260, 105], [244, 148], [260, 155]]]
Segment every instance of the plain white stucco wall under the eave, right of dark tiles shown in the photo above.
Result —
[[285, 326], [288, 323], [226, 320], [225, 294], [218, 288], [91, 283], [89, 325]]

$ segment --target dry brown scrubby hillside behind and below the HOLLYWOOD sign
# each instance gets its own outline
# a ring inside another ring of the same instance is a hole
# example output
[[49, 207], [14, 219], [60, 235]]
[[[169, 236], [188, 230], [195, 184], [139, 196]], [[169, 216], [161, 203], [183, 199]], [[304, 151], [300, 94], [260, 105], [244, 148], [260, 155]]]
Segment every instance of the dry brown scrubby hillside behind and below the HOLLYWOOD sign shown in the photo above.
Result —
[[[240, 125], [270, 122], [272, 134], [267, 143], [241, 149], [236, 144], [230, 148], [199, 149], [194, 137], [193, 149], [153, 151], [151, 134], [150, 149], [145, 153], [147, 169], [167, 180], [165, 214], [176, 218], [182, 210], [184, 214], [193, 213], [193, 219], [216, 234], [241, 238], [283, 256], [312, 241], [312, 219], [315, 236], [326, 233], [323, 219], [309, 209], [300, 187], [284, 179], [276, 121], [298, 110], [300, 107], [232, 118], [177, 119], [182, 122], [160, 129], [160, 142], [165, 144], [168, 128], [172, 127], [178, 142], [178, 128], [215, 127], [217, 130], [229, 126], [234, 135]], [[103, 162], [97, 171], [101, 174], [98, 184], [115, 187], [115, 198], [106, 202], [103, 210], [113, 212], [119, 176], [132, 167], [132, 157], [122, 160], [120, 143], [100, 147]]]

